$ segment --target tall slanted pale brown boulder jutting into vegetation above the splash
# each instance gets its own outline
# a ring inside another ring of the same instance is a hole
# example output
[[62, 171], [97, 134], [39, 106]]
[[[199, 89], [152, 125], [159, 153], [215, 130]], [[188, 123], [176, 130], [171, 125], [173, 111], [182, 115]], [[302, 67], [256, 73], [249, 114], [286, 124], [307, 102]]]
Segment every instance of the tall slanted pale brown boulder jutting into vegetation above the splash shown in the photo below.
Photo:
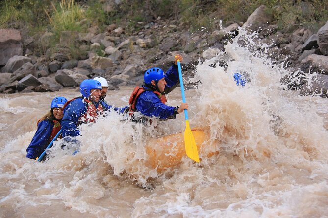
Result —
[[260, 27], [263, 27], [273, 19], [272, 14], [269, 13], [269, 9], [261, 5], [259, 6], [247, 19], [242, 26], [243, 28], [253, 32], [258, 31]]

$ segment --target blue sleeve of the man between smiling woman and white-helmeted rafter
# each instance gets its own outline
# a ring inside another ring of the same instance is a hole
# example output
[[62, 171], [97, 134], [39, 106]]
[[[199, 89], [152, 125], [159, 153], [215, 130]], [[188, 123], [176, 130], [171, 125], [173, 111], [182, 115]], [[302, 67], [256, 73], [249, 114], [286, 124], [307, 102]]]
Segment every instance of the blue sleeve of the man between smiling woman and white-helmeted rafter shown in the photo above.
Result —
[[78, 130], [78, 119], [86, 113], [86, 104], [81, 98], [77, 98], [70, 102], [64, 109], [64, 116], [61, 120], [61, 128], [63, 137], [77, 136], [80, 134]]

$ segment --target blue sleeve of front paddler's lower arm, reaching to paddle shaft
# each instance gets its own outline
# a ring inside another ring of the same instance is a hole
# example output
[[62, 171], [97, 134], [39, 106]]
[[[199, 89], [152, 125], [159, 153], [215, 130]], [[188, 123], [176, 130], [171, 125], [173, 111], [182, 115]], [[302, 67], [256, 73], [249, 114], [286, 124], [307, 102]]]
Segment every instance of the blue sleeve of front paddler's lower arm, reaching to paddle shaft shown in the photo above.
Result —
[[145, 91], [138, 97], [136, 109], [149, 117], [155, 116], [159, 119], [167, 119], [169, 116], [174, 115], [175, 107], [163, 104], [152, 91]]

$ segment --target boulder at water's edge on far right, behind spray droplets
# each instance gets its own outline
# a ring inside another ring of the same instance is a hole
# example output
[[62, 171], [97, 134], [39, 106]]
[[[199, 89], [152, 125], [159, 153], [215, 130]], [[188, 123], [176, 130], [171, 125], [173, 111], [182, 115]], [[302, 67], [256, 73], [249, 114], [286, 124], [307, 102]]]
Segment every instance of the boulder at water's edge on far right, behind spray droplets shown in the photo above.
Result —
[[328, 97], [328, 75], [317, 74], [312, 81], [305, 81], [301, 88], [300, 95], [317, 95], [320, 97]]

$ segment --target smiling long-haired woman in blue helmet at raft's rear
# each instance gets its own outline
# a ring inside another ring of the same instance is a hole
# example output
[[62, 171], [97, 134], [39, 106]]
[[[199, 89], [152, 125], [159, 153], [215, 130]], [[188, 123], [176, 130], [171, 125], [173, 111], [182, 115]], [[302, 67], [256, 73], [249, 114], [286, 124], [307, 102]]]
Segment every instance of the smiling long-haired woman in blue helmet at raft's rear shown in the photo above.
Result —
[[63, 107], [66, 102], [67, 99], [64, 97], [55, 97], [51, 101], [50, 111], [37, 123], [38, 129], [26, 149], [26, 157], [31, 159], [39, 157], [60, 131], [60, 122], [63, 118]]

